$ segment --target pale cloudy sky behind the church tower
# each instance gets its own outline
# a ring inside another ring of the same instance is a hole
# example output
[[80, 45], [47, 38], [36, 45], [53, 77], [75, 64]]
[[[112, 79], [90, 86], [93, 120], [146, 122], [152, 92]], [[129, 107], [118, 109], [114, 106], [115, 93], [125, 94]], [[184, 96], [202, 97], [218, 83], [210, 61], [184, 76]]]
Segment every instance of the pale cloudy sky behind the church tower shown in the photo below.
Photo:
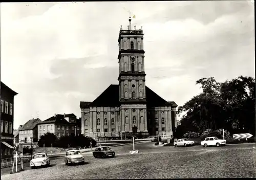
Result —
[[[179, 106], [196, 81], [255, 78], [254, 1], [1, 3], [1, 81], [18, 93], [14, 128], [54, 114], [81, 117], [118, 84], [118, 35], [143, 29], [146, 85]], [[179, 119], [179, 117], [178, 117]]]

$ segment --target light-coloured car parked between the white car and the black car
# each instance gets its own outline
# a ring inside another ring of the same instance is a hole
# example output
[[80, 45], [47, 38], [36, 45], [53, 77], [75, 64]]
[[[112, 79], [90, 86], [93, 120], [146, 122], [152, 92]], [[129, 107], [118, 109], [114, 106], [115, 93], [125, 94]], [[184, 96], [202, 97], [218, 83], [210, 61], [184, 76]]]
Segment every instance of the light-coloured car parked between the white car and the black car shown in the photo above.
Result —
[[65, 164], [70, 165], [73, 163], [84, 163], [84, 156], [80, 153], [79, 150], [68, 150], [64, 158]]

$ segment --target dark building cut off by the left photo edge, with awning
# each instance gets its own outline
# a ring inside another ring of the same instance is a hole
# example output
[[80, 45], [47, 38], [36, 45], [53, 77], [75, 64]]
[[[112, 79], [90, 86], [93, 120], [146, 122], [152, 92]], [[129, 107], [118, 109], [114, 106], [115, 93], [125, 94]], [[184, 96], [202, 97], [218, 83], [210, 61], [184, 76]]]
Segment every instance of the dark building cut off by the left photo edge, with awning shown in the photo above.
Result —
[[14, 96], [17, 93], [1, 81], [1, 159], [13, 156]]

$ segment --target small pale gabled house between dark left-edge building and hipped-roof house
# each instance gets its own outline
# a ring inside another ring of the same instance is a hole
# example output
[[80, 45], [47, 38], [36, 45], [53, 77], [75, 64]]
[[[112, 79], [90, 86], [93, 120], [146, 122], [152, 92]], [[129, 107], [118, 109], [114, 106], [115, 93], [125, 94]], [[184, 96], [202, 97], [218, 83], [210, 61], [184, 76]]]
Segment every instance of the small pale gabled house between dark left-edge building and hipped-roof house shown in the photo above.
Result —
[[40, 119], [31, 119], [19, 129], [19, 143], [37, 142], [37, 124], [42, 122]]

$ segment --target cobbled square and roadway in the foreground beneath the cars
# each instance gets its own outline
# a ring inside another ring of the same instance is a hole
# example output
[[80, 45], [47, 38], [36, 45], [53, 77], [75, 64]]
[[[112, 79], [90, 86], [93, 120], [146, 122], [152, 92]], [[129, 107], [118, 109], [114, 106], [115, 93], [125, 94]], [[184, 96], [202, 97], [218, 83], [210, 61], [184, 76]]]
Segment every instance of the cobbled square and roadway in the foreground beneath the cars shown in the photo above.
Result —
[[[66, 166], [63, 157], [52, 158], [47, 168], [8, 174], [2, 179], [118, 179], [118, 178], [226, 178], [256, 177], [255, 144], [224, 147], [156, 147], [152, 142], [135, 144], [138, 154], [129, 154], [133, 145], [112, 147], [115, 158], [95, 159], [83, 153], [86, 164]], [[2, 170], [2, 169], [1, 169]]]

